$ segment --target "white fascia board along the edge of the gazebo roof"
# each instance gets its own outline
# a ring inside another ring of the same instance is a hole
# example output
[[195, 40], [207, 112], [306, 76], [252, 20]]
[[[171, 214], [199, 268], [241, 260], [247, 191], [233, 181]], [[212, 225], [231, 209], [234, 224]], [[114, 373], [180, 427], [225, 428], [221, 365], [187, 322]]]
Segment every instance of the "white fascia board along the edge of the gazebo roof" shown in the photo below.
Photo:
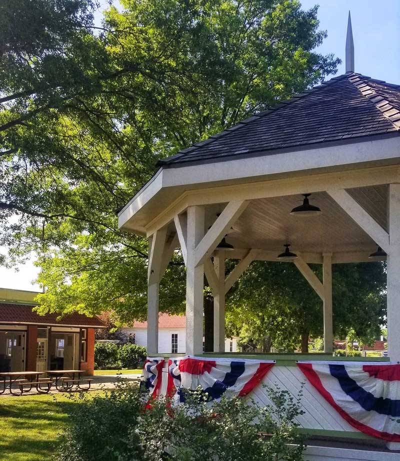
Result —
[[234, 184], [240, 180], [267, 179], [268, 176], [290, 175], [306, 171], [324, 171], [335, 167], [354, 168], [368, 162], [400, 162], [400, 136], [351, 142], [328, 147], [314, 147], [298, 151], [279, 152], [212, 163], [190, 164], [160, 168], [154, 177], [125, 205], [118, 216], [120, 229], [132, 229], [145, 235], [141, 224], [129, 220], [160, 191], [174, 190], [171, 201], [185, 190], [213, 187], [216, 184]]

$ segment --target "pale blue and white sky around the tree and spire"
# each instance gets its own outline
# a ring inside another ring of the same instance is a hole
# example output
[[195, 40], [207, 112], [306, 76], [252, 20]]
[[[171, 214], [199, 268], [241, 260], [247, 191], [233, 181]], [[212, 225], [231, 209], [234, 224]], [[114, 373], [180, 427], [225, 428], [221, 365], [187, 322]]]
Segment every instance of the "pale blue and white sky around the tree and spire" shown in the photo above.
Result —
[[[100, 2], [104, 8], [106, 2]], [[355, 71], [389, 83], [400, 84], [400, 0], [302, 0], [303, 9], [319, 4], [319, 27], [328, 36], [317, 49], [333, 53], [343, 61], [337, 74], [344, 73], [347, 15], [350, 10], [354, 39]], [[100, 7], [101, 10], [101, 7]], [[101, 22], [101, 11], [95, 16]], [[4, 253], [5, 248], [0, 248]], [[14, 269], [0, 267], [0, 287], [37, 290], [31, 282], [38, 269], [32, 261]]]

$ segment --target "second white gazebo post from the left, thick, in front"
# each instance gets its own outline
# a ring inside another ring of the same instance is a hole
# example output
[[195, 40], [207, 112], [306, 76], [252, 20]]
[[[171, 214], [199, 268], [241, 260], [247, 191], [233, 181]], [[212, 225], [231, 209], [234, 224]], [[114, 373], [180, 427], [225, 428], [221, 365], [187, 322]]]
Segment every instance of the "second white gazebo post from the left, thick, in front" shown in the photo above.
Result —
[[204, 207], [187, 208], [186, 234], [186, 354], [203, 350], [204, 265], [195, 266], [195, 248], [204, 236]]

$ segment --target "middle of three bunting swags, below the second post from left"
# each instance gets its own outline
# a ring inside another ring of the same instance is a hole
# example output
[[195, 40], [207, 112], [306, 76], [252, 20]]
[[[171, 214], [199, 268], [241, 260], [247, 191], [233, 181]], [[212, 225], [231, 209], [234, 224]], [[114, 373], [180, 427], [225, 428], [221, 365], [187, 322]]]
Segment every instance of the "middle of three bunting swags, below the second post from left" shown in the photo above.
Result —
[[204, 359], [180, 357], [168, 361], [167, 396], [183, 402], [182, 389], [200, 387], [210, 400], [226, 396], [245, 396], [273, 367], [273, 360]]

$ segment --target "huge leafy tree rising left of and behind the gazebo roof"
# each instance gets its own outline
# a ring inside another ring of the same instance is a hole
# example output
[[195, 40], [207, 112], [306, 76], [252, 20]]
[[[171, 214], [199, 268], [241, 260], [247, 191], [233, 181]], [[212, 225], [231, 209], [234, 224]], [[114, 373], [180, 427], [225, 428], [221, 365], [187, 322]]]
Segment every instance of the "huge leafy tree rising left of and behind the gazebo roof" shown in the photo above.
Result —
[[[298, 1], [120, 3], [100, 27], [91, 0], [0, 4], [0, 244], [4, 263], [37, 255], [43, 312], [143, 318], [147, 244], [119, 232], [115, 212], [157, 159], [338, 63], [315, 51], [326, 33]], [[176, 254], [161, 310], [182, 310], [183, 272]]]

